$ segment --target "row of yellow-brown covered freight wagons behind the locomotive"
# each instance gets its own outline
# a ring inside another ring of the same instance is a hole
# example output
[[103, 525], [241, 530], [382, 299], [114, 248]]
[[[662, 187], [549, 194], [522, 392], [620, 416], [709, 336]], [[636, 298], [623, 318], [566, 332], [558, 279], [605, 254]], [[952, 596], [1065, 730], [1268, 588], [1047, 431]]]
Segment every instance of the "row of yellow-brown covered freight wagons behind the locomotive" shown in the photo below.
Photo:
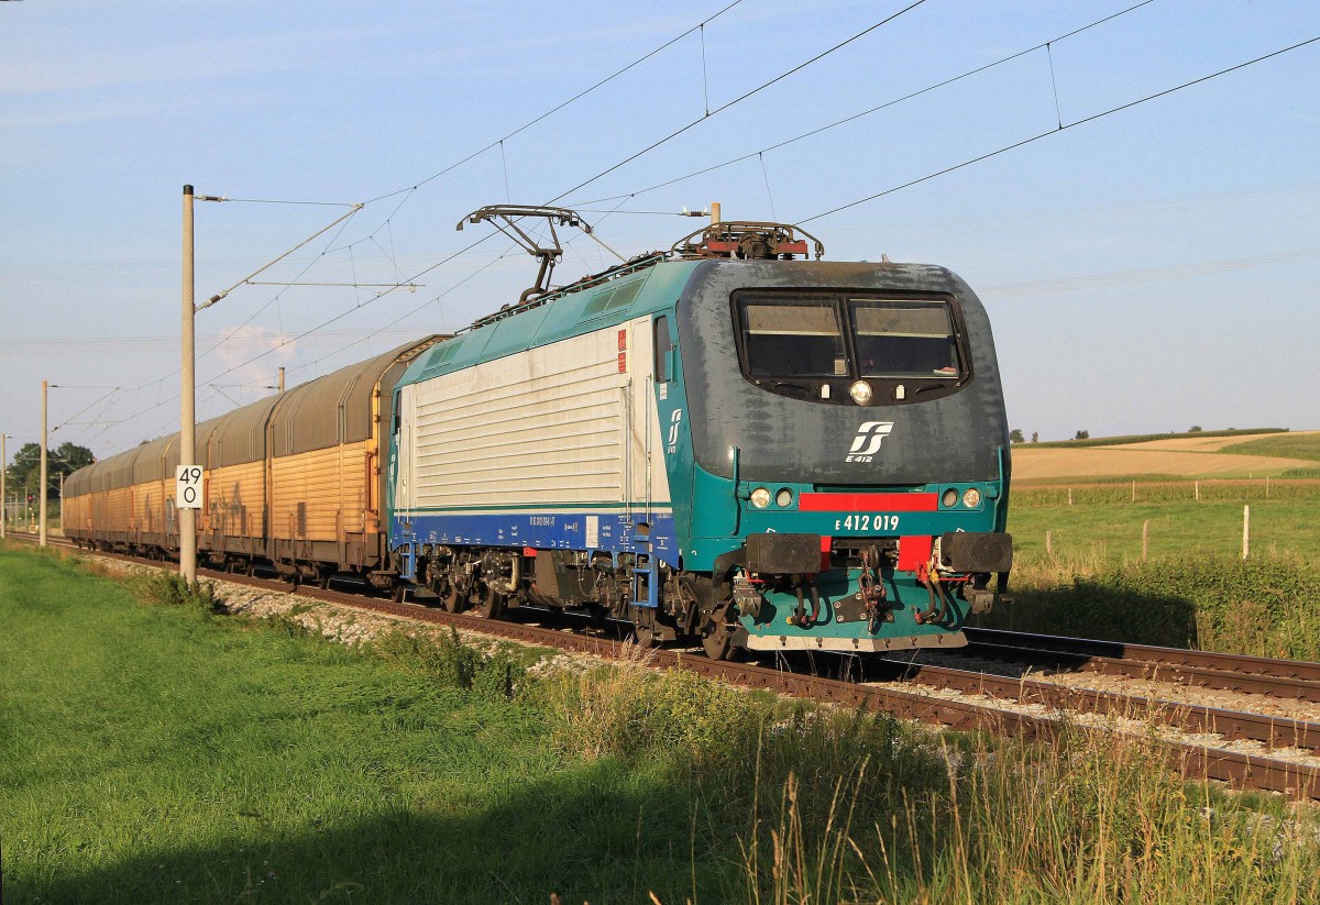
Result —
[[[407, 343], [197, 426], [206, 468], [203, 562], [294, 580], [356, 573], [387, 584], [383, 532], [393, 389], [446, 336]], [[81, 468], [65, 482], [65, 533], [82, 546], [178, 555], [178, 434]]]

